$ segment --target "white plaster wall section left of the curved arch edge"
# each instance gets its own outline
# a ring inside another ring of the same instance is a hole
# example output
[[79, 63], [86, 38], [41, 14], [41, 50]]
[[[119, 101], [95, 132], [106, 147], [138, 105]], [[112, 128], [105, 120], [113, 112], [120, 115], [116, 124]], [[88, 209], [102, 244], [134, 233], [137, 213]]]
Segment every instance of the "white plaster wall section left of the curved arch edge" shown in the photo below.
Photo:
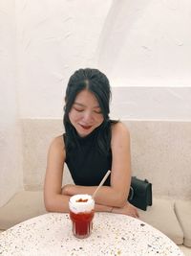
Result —
[[95, 66], [111, 2], [16, 1], [21, 117], [62, 116], [69, 76]]

